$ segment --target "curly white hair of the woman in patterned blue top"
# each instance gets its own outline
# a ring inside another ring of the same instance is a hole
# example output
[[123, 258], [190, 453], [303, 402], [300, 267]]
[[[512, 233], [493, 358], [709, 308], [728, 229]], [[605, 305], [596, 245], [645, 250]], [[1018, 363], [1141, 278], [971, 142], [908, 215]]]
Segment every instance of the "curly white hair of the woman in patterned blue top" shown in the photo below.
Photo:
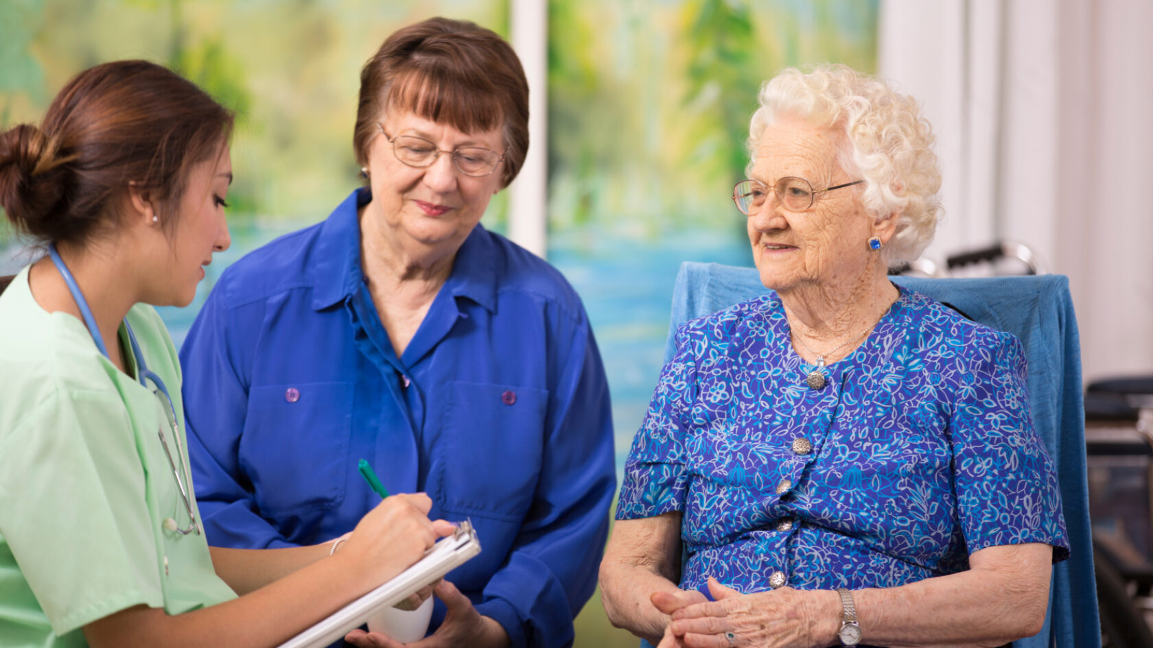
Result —
[[822, 65], [808, 73], [782, 70], [761, 85], [758, 100], [748, 128], [751, 152], [778, 118], [843, 133], [838, 163], [865, 179], [865, 209], [877, 219], [897, 214], [895, 234], [882, 249], [886, 262], [898, 265], [921, 255], [941, 213], [941, 171], [933, 129], [912, 97], [847, 66]]

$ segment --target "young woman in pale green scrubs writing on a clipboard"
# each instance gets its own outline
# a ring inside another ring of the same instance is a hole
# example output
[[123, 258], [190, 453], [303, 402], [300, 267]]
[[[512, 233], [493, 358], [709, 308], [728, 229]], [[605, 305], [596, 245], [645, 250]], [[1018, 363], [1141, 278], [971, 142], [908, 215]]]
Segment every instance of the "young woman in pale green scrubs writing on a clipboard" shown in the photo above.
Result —
[[452, 530], [401, 495], [347, 542], [205, 542], [148, 304], [187, 306], [228, 247], [231, 129], [194, 84], [118, 61], [0, 134], [0, 205], [51, 253], [0, 295], [0, 647], [276, 646]]

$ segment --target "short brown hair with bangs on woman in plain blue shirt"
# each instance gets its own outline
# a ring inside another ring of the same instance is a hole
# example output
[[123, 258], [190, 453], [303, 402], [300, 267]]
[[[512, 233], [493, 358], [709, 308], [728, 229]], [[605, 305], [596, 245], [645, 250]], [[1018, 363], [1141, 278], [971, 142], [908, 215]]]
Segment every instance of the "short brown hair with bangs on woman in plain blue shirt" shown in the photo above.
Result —
[[[528, 152], [528, 81], [512, 47], [468, 21], [429, 18], [390, 36], [361, 70], [353, 148], [368, 164], [378, 115], [410, 110], [464, 133], [504, 127], [507, 187]], [[503, 122], [503, 123], [502, 123]]]

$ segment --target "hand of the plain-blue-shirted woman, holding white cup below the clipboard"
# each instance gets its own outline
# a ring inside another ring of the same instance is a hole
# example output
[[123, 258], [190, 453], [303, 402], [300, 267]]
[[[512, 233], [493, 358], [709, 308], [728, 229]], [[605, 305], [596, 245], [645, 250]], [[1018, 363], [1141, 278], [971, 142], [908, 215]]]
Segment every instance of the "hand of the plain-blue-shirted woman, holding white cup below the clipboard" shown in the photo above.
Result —
[[[473, 602], [457, 589], [457, 586], [443, 580], [432, 590], [436, 597], [444, 601], [447, 612], [444, 623], [429, 636], [408, 643], [412, 648], [457, 648], [469, 646], [477, 648], [505, 648], [508, 646], [508, 633], [496, 620], [482, 617]], [[360, 648], [404, 648], [400, 643], [379, 632], [354, 630], [345, 635], [345, 641]]]

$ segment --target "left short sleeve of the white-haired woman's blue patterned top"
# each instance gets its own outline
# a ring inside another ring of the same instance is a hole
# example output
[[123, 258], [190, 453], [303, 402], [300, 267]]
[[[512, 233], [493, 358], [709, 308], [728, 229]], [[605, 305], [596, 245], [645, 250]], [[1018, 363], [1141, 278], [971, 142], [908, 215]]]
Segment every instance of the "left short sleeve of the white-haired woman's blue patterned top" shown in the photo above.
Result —
[[677, 332], [677, 351], [656, 391], [625, 461], [617, 519], [651, 518], [685, 510], [688, 475], [685, 440], [696, 393], [696, 361], [688, 325]]

